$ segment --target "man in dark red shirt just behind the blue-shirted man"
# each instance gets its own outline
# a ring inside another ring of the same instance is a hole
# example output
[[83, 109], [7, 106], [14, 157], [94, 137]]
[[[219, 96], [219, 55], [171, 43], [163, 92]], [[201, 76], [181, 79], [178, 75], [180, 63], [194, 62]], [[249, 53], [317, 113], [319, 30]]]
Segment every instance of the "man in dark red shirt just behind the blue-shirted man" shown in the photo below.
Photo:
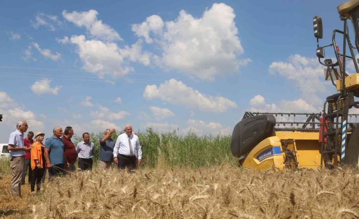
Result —
[[65, 146], [65, 155], [70, 163], [70, 166], [67, 168], [67, 171], [74, 172], [76, 170], [75, 168], [75, 162], [77, 159], [77, 152], [74, 143], [72, 143], [71, 138], [74, 135], [74, 130], [72, 127], [66, 127], [64, 131], [64, 136], [62, 137], [62, 141]]

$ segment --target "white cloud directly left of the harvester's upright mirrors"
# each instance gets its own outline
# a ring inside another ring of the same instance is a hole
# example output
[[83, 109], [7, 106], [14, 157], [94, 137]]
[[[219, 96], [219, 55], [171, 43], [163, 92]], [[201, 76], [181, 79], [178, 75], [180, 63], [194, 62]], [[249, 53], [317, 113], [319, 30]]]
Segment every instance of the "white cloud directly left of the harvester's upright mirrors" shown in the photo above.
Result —
[[288, 58], [288, 62], [275, 61], [269, 67], [271, 74], [278, 74], [295, 82], [301, 89], [304, 100], [313, 103], [323, 102], [317, 96], [325, 91], [323, 66], [317, 58], [307, 58], [295, 54]]

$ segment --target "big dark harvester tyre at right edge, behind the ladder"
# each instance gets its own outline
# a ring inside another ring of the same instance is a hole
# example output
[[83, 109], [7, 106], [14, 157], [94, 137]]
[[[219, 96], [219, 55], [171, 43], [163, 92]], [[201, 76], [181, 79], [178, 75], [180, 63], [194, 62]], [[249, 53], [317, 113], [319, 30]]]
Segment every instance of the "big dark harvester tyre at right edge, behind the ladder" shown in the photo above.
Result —
[[345, 164], [356, 166], [359, 158], [359, 127], [353, 130], [345, 152]]

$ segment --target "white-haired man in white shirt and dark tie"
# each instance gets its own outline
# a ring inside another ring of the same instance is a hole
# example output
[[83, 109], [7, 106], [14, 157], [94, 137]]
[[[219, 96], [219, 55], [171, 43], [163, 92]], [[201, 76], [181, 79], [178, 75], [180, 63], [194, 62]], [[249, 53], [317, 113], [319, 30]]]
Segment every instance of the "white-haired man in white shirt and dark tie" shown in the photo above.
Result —
[[113, 148], [113, 161], [118, 169], [136, 169], [142, 161], [142, 150], [137, 135], [132, 133], [132, 126], [126, 124], [125, 133], [117, 137]]

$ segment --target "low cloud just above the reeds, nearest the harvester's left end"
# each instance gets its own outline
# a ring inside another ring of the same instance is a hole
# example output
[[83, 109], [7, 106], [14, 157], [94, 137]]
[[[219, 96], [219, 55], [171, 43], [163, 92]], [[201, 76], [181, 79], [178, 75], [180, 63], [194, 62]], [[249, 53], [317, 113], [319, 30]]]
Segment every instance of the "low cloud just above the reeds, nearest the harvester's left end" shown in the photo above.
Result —
[[219, 122], [204, 122], [202, 120], [189, 119], [187, 121], [188, 127], [182, 132], [194, 132], [197, 134], [225, 134], [228, 135], [232, 131], [230, 127], [223, 128]]

